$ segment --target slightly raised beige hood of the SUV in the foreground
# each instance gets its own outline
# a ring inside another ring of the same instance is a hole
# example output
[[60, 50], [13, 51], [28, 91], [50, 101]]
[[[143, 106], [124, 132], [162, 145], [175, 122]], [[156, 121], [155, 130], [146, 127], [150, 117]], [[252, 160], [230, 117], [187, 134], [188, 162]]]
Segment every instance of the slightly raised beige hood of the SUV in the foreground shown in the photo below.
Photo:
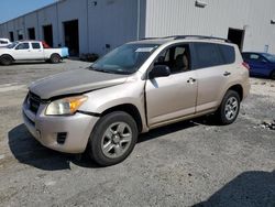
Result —
[[128, 75], [108, 74], [90, 69], [74, 69], [33, 83], [29, 89], [41, 99], [81, 94], [123, 84]]

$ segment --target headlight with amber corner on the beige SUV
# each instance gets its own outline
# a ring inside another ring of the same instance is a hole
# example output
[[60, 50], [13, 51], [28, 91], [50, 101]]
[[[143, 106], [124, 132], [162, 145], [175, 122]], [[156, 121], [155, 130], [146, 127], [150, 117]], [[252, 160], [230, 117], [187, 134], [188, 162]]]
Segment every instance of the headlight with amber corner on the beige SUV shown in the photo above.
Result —
[[87, 96], [76, 96], [55, 100], [47, 106], [45, 115], [74, 115], [87, 99]]

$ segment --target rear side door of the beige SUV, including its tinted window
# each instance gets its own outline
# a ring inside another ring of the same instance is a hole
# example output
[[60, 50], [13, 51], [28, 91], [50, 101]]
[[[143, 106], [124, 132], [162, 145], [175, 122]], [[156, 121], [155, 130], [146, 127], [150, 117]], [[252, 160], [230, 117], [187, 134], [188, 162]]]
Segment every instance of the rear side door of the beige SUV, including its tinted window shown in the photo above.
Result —
[[198, 78], [196, 112], [216, 109], [226, 87], [232, 81], [235, 69], [235, 52], [230, 45], [194, 43], [195, 68]]

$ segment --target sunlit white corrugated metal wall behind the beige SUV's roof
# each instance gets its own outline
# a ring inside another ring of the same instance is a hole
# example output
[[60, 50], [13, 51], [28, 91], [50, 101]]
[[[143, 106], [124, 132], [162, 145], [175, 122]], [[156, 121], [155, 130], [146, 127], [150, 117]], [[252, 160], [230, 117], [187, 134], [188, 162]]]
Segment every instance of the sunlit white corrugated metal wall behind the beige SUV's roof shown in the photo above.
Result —
[[243, 50], [263, 51], [270, 45], [275, 53], [274, 0], [147, 0], [146, 36], [199, 34], [228, 36], [228, 29], [246, 30]]

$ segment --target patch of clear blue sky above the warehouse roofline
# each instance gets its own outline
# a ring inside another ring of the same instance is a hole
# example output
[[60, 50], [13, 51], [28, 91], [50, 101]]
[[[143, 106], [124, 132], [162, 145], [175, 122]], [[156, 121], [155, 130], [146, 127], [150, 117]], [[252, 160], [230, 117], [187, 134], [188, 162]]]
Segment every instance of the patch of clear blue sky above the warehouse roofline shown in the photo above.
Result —
[[56, 0], [1, 0], [0, 23], [14, 19], [19, 15], [34, 11]]

